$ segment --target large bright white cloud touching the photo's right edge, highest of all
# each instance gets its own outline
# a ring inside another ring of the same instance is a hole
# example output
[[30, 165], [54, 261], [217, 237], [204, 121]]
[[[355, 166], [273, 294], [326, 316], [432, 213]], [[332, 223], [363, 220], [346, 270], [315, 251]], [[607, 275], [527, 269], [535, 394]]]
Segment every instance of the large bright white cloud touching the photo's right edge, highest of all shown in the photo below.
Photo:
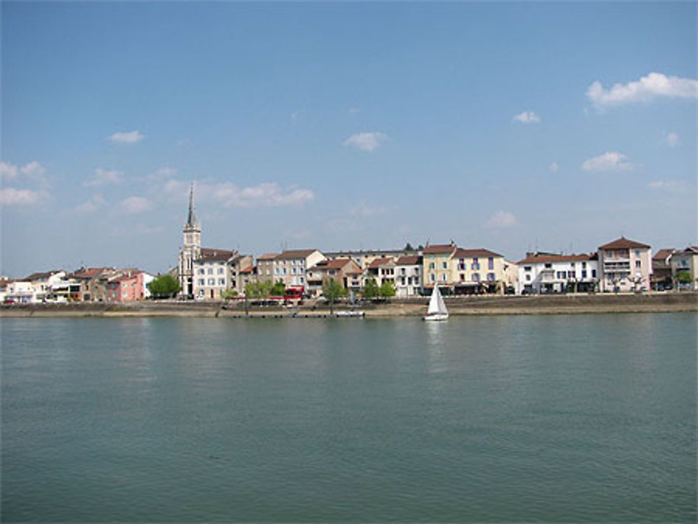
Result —
[[658, 96], [673, 98], [698, 98], [698, 80], [667, 77], [662, 73], [650, 73], [637, 82], [614, 84], [604, 89], [596, 80], [586, 90], [586, 96], [597, 109], [636, 102], [649, 102]]

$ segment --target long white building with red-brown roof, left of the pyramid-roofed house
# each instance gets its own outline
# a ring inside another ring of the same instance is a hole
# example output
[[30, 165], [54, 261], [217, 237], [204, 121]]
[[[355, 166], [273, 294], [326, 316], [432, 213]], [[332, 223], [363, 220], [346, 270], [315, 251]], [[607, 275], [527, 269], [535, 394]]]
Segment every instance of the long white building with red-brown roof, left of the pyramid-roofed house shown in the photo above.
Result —
[[527, 253], [517, 266], [517, 294], [593, 292], [597, 287], [598, 260], [595, 253]]

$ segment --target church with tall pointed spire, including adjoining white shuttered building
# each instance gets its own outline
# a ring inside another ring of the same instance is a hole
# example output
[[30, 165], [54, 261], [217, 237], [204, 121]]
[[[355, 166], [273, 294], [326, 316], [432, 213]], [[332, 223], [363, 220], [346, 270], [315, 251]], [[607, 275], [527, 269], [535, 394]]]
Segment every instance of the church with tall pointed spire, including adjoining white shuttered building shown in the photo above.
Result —
[[179, 250], [177, 276], [181, 296], [186, 299], [223, 299], [227, 292], [244, 292], [248, 269], [253, 266], [250, 255], [235, 250], [201, 247], [201, 226], [194, 214], [194, 186], [189, 189], [189, 212], [182, 228], [183, 243]]

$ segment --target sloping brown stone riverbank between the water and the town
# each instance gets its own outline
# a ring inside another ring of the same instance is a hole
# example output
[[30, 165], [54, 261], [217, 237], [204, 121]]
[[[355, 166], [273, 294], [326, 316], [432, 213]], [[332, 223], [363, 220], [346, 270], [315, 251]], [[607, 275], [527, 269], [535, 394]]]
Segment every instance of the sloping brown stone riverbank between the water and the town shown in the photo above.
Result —
[[[451, 315], [552, 315], [573, 313], [669, 313], [698, 311], [698, 294], [576, 294], [547, 296], [452, 297], [445, 299]], [[428, 299], [392, 299], [337, 311], [363, 311], [365, 317], [419, 317]], [[144, 301], [131, 304], [77, 303], [2, 306], [0, 317], [329, 317], [327, 304], [307, 301], [299, 307], [250, 306], [242, 301]]]

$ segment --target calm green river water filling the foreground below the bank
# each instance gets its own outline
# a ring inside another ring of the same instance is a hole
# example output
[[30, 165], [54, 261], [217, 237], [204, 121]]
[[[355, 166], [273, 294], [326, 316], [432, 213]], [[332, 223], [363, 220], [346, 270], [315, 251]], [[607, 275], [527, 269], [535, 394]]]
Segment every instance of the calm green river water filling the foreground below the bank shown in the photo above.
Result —
[[697, 318], [3, 319], [2, 521], [695, 522]]

